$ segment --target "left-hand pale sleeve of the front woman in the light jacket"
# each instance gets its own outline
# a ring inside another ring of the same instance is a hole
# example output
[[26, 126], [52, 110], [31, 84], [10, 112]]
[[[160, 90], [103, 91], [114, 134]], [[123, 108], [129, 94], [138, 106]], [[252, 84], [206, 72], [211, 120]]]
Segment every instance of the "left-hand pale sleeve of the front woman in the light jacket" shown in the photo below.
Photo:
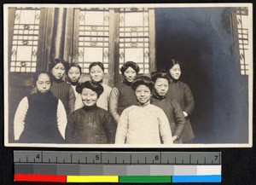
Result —
[[115, 135], [115, 144], [125, 144], [127, 130], [128, 116], [127, 113], [124, 111], [119, 118], [119, 124], [117, 126]]

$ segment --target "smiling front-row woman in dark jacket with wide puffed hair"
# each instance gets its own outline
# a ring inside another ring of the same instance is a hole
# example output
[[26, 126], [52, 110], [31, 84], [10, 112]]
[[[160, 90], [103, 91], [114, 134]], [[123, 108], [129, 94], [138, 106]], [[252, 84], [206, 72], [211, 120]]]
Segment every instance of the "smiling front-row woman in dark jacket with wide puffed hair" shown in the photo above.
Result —
[[70, 143], [107, 144], [114, 143], [116, 124], [113, 118], [96, 101], [102, 95], [101, 84], [86, 81], [76, 88], [81, 94], [84, 107], [71, 114], [67, 121], [66, 141]]

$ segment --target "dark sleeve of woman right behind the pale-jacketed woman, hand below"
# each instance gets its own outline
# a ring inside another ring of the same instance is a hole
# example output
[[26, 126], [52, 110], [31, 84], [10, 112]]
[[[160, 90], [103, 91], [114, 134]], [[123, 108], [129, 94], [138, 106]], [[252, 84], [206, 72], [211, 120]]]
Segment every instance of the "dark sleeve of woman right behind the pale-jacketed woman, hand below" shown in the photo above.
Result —
[[183, 134], [186, 119], [183, 115], [183, 110], [177, 101], [172, 101], [172, 107], [174, 110], [174, 121], [176, 125], [173, 135], [181, 136]]

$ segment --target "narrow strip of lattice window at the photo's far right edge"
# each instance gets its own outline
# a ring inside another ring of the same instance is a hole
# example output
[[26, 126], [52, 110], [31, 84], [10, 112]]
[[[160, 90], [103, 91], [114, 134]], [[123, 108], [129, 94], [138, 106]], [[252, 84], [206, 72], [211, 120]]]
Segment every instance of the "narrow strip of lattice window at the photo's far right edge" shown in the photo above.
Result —
[[241, 64], [241, 74], [248, 75], [249, 70], [249, 40], [248, 40], [248, 23], [247, 20], [248, 9], [238, 8], [236, 9], [236, 19], [238, 28], [238, 45], [240, 52], [240, 64]]

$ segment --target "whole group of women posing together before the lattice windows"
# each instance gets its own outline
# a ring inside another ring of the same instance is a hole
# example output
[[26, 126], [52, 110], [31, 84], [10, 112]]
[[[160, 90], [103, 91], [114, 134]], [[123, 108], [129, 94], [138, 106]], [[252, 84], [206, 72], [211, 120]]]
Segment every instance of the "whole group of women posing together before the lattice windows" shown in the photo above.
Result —
[[[124, 80], [103, 84], [104, 66], [89, 66], [90, 80], [81, 82], [81, 67], [55, 59], [49, 72], [38, 72], [34, 90], [17, 107], [15, 141], [21, 143], [172, 144], [191, 142], [189, 116], [194, 99], [179, 81], [180, 64], [167, 72], [138, 77], [139, 66], [127, 61]], [[66, 75], [65, 75], [66, 73]], [[67, 77], [67, 80], [63, 78]]]

